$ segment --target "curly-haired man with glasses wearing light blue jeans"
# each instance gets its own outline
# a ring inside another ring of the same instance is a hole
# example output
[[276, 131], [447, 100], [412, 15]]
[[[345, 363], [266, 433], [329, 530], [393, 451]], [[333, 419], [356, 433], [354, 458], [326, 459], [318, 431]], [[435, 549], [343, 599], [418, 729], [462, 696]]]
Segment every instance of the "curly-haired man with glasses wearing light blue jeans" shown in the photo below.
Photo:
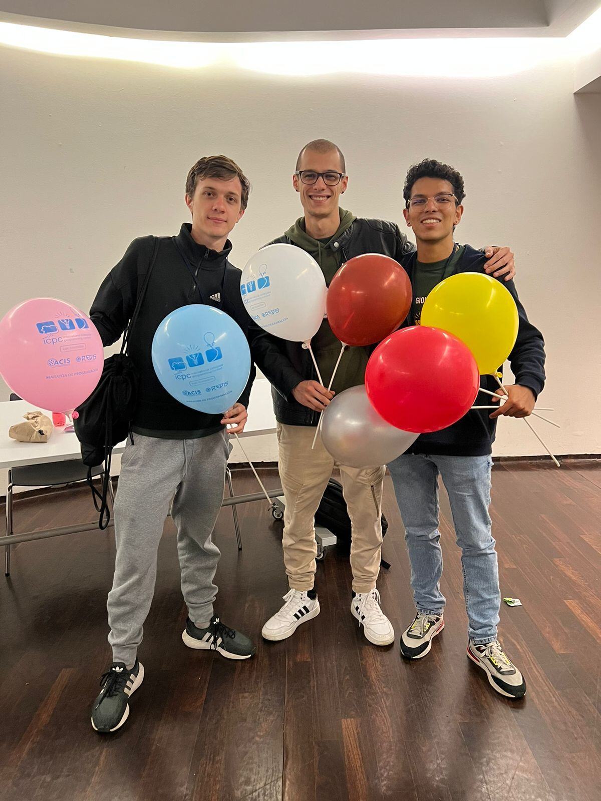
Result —
[[[454, 243], [465, 197], [462, 176], [453, 167], [426, 159], [409, 169], [405, 221], [413, 229], [417, 252], [403, 266], [413, 286], [407, 325], [419, 324], [422, 304], [436, 284], [458, 272], [485, 272], [485, 256], [470, 245]], [[467, 655], [490, 685], [507, 698], [522, 698], [526, 682], [497, 639], [501, 593], [497, 553], [490, 533], [490, 469], [496, 418], [527, 417], [545, 383], [543, 336], [518, 300], [513, 281], [506, 284], [518, 307], [518, 339], [510, 353], [515, 384], [509, 398], [492, 414], [468, 412], [447, 429], [422, 434], [407, 453], [389, 464], [398, 507], [405, 525], [411, 562], [411, 586], [417, 614], [401, 635], [401, 654], [419, 659], [445, 626], [446, 604], [440, 589], [442, 549], [438, 531], [438, 476], [449, 495], [457, 544], [462, 549], [463, 592], [468, 626]], [[483, 332], [484, 336], [484, 332]], [[494, 376], [481, 386], [500, 394]]]

